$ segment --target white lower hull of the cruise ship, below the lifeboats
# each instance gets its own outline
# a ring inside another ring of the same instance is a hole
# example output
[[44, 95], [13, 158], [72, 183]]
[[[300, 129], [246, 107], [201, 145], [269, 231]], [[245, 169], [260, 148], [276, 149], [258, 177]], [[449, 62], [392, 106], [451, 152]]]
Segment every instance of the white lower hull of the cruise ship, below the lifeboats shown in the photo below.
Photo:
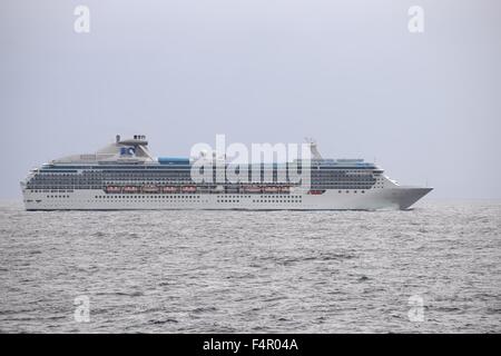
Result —
[[407, 209], [432, 188], [384, 187], [364, 192], [308, 194], [106, 194], [104, 190], [23, 188], [27, 210], [377, 210]]

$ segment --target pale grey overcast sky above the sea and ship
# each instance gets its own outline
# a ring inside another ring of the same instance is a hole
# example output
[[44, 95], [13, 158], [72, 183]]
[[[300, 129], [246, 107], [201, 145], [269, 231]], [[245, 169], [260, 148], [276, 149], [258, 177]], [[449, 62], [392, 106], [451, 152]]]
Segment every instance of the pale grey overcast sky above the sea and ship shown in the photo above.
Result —
[[116, 134], [158, 156], [226, 134], [312, 136], [431, 197], [500, 199], [500, 33], [499, 0], [2, 0], [0, 197]]

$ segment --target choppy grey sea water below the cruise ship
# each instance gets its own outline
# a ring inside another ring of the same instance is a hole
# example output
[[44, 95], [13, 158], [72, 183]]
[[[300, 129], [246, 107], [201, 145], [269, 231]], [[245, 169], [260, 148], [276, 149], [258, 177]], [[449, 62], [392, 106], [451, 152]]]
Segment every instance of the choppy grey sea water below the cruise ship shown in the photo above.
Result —
[[[499, 201], [379, 212], [3, 202], [0, 244], [3, 333], [501, 332]], [[75, 320], [79, 296], [89, 323]]]

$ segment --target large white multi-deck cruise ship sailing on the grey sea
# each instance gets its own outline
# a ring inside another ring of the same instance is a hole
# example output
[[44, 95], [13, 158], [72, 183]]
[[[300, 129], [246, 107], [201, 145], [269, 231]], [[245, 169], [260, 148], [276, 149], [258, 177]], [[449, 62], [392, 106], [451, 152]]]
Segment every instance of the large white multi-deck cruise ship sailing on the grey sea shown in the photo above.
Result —
[[[144, 135], [117, 135], [95, 154], [32, 169], [21, 181], [23, 202], [27, 210], [376, 210], [409, 209], [432, 190], [401, 186], [363, 159], [324, 159], [315, 142], [308, 145], [307, 165], [296, 159], [294, 166], [308, 170], [307, 185], [281, 175], [292, 162], [248, 164], [257, 178], [242, 181], [198, 181], [193, 157], [156, 158]], [[214, 157], [206, 159], [216, 165]]]

